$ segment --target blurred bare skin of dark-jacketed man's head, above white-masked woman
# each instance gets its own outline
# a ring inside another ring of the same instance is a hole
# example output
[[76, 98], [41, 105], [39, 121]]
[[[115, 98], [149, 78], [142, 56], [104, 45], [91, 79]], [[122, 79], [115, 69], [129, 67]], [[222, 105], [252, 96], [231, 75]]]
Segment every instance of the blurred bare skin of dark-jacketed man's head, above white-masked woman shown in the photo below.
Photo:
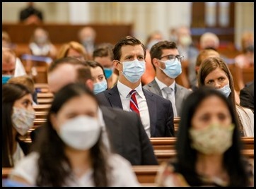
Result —
[[63, 63], [54, 68], [48, 73], [49, 90], [56, 93], [62, 87], [69, 83], [76, 83], [77, 71], [76, 66], [70, 63]]

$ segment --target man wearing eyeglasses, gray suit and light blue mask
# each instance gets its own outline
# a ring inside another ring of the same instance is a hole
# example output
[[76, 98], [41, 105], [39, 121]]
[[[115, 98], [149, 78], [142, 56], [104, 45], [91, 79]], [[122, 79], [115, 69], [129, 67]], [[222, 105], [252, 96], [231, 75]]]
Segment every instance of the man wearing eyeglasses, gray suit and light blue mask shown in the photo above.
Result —
[[190, 90], [175, 83], [175, 78], [182, 73], [182, 58], [175, 42], [161, 41], [153, 45], [150, 51], [151, 62], [156, 71], [155, 79], [144, 85], [144, 89], [169, 99], [173, 105], [174, 117], [179, 117], [182, 102]]

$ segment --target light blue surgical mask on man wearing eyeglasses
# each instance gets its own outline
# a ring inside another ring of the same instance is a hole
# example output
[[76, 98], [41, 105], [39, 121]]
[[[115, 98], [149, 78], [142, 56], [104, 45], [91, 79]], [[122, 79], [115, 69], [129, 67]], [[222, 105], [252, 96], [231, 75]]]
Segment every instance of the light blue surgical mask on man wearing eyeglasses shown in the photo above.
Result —
[[182, 73], [181, 63], [180, 61], [175, 58], [174, 61], [163, 61], [165, 63], [165, 69], [160, 68], [163, 73], [165, 73], [170, 78], [177, 78], [180, 73]]

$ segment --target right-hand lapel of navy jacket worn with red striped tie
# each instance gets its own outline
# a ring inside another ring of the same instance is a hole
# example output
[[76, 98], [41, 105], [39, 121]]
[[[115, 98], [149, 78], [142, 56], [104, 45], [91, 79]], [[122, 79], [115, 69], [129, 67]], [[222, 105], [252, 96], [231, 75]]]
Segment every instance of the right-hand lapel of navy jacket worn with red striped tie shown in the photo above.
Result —
[[150, 133], [151, 136], [156, 132], [156, 98], [153, 97], [151, 92], [142, 89], [146, 97], [146, 104], [149, 108], [149, 118], [150, 118]]

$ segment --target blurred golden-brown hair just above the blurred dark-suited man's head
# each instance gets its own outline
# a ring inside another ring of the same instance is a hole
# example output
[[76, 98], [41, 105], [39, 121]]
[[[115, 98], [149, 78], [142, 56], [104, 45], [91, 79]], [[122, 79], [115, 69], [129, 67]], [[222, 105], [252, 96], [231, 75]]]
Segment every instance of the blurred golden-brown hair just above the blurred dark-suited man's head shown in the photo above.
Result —
[[67, 42], [59, 48], [57, 59], [62, 59], [64, 57], [75, 57], [80, 61], [88, 60], [88, 53], [86, 48], [78, 42]]

